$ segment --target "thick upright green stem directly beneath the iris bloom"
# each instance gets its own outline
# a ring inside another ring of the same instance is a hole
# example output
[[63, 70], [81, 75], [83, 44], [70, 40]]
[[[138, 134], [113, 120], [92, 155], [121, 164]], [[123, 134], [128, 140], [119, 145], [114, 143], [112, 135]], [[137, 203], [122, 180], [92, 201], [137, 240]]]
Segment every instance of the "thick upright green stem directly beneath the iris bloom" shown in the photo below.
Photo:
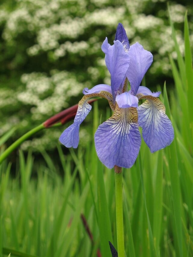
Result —
[[115, 205], [117, 226], [118, 256], [125, 256], [124, 229], [123, 229], [123, 192], [122, 192], [122, 168], [115, 165]]

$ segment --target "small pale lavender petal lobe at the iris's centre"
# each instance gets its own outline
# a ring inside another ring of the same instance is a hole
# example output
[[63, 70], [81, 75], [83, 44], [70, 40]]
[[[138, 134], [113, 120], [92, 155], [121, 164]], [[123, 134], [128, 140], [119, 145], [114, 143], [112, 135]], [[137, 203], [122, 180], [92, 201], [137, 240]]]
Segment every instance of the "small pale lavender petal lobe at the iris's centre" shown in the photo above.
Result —
[[124, 92], [116, 96], [116, 102], [120, 108], [138, 107], [138, 98], [129, 92]]

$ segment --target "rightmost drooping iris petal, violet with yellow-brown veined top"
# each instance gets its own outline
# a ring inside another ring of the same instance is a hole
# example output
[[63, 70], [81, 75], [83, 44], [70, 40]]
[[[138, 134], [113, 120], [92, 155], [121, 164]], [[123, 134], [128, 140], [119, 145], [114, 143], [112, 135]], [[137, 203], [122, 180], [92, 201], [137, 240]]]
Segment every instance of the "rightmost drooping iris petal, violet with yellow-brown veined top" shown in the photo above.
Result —
[[165, 113], [165, 106], [156, 97], [143, 96], [147, 100], [138, 107], [138, 124], [151, 152], [169, 146], [174, 139], [172, 123]]

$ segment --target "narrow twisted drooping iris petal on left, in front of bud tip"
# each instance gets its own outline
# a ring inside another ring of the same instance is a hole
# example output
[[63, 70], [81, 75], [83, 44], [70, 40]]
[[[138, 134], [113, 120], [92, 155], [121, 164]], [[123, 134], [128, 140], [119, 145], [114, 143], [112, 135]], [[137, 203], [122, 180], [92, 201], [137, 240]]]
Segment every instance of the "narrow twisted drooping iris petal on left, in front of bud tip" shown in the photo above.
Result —
[[96, 96], [100, 96], [107, 99], [109, 101], [109, 105], [112, 108], [112, 110], [115, 109], [112, 95], [109, 92], [100, 91], [100, 93], [92, 93], [92, 94], [83, 96], [83, 98], [78, 103], [78, 110], [74, 118], [74, 123], [70, 125], [67, 129], [65, 129], [59, 138], [59, 141], [66, 147], [73, 147], [73, 148], [78, 147], [80, 124], [84, 121], [84, 119], [87, 117], [87, 115], [89, 114], [92, 108], [92, 106], [88, 103], [88, 100]]

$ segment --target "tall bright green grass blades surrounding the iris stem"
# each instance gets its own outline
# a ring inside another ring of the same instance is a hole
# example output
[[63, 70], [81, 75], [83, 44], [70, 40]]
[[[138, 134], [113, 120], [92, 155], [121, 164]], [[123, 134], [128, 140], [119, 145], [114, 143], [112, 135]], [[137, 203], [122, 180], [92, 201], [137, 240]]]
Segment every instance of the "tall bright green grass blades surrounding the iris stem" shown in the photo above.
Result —
[[[142, 140], [135, 165], [123, 169], [125, 254], [130, 257], [193, 256], [193, 73], [187, 17], [185, 58], [171, 26], [178, 55], [177, 62], [170, 56], [175, 90], [168, 100], [165, 84], [161, 100], [175, 139], [154, 154]], [[93, 109], [96, 131], [106, 117], [100, 116], [97, 102]], [[100, 163], [93, 141], [85, 149], [71, 149], [71, 156], [57, 148], [64, 178], [46, 152], [37, 177], [31, 176], [32, 152], [26, 159], [19, 152], [15, 178], [11, 164], [0, 166], [1, 256], [97, 256], [100, 249], [103, 257], [110, 257], [108, 241], [117, 248], [114, 171]]]

